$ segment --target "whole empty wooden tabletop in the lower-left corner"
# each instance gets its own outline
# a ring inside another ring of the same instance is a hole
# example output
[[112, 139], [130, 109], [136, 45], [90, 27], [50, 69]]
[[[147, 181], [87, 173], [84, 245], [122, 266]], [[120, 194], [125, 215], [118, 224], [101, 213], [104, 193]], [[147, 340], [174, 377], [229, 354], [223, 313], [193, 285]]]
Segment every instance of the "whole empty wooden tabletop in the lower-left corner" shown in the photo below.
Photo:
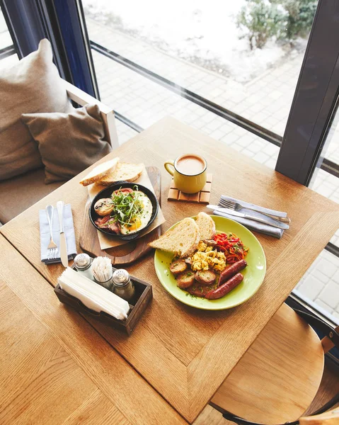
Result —
[[1, 235], [0, 252], [1, 424], [186, 423]]

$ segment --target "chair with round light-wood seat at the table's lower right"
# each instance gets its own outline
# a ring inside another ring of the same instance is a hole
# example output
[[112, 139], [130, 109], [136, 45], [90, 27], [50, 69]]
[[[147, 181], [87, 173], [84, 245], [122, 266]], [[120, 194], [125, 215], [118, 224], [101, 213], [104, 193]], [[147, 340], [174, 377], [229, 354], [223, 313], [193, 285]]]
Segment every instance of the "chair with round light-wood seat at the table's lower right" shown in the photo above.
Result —
[[[329, 336], [321, 341], [301, 315]], [[339, 346], [338, 328], [283, 304], [219, 387], [212, 406], [237, 424], [297, 421], [318, 391], [324, 354]]]

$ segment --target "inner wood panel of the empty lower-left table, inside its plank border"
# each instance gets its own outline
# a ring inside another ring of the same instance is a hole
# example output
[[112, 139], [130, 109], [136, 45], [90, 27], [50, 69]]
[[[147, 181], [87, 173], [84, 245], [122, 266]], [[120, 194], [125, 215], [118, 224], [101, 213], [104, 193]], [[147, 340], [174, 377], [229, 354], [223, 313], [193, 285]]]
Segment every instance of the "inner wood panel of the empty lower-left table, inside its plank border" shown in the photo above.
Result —
[[0, 423], [61, 424], [96, 385], [2, 279], [0, 300]]

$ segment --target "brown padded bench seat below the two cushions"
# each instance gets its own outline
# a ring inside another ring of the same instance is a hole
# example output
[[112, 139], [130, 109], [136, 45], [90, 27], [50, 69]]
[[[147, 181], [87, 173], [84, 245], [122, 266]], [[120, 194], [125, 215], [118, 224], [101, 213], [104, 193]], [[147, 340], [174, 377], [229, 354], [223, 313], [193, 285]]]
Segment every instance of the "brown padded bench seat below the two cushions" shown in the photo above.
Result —
[[10, 180], [0, 181], [0, 222], [3, 225], [62, 186], [62, 182], [45, 185], [44, 180], [45, 172], [40, 168]]

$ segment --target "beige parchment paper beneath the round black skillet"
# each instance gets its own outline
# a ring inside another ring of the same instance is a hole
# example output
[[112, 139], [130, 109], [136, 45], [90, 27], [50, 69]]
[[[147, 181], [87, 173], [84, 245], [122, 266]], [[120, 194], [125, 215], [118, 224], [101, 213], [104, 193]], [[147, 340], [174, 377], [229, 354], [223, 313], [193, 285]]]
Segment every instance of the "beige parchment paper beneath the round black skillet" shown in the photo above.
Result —
[[[149, 180], [149, 175], [147, 174], [145, 166], [144, 166], [144, 171], [142, 171], [142, 174], [139, 177], [139, 179], [137, 179], [136, 181], [133, 181], [133, 183], [142, 184], [142, 186], [149, 188], [154, 193], [154, 189], [153, 189], [151, 181]], [[96, 194], [102, 191], [106, 186], [102, 186], [100, 184], [94, 183], [87, 187], [88, 187], [89, 198], [92, 200], [96, 196]], [[144, 234], [151, 232], [156, 227], [162, 225], [165, 221], [166, 220], [165, 220], [165, 217], [163, 217], [163, 212], [161, 211], [161, 208], [159, 207], [159, 211], [158, 211], [158, 215], [156, 215], [156, 219], [149, 227], [147, 227], [147, 229], [144, 230], [144, 232], [141, 232], [139, 237], [142, 237], [144, 236]], [[99, 231], [97, 232], [98, 232], [98, 238], [99, 238], [101, 249], [113, 248], [114, 246], [124, 245], [129, 242], [129, 241], [123, 241], [122, 239], [118, 239], [117, 237], [114, 237], [114, 236], [110, 237], [108, 236], [108, 234], [104, 234]]]

